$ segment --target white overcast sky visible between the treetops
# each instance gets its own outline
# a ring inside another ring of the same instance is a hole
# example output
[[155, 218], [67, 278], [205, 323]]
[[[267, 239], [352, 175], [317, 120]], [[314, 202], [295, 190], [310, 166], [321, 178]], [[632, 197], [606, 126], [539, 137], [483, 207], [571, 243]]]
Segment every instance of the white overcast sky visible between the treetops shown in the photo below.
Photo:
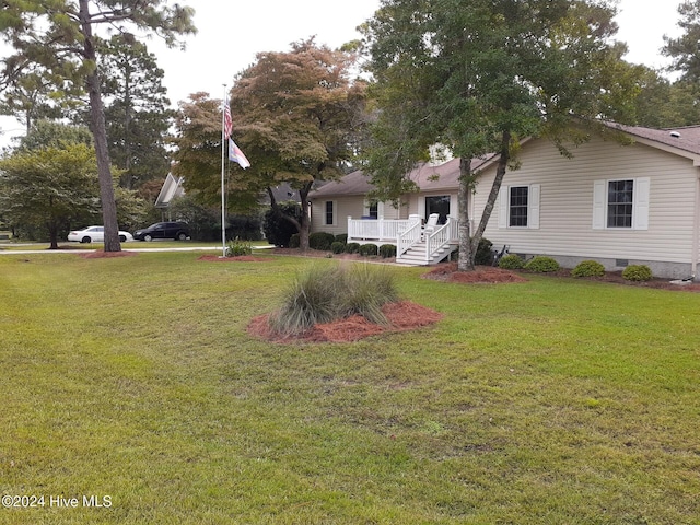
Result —
[[[355, 27], [372, 16], [380, 0], [185, 0], [195, 7], [198, 34], [187, 38], [187, 49], [166, 49], [147, 40], [165, 71], [164, 84], [173, 106], [190, 93], [205, 91], [221, 98], [223, 84], [255, 60], [256, 52], [288, 50], [292, 42], [316, 36], [316, 42], [338, 47], [358, 38]], [[677, 35], [680, 0], [620, 0], [618, 39], [629, 46], [627, 60], [658, 68], [666, 63], [658, 49], [663, 35]], [[21, 126], [0, 117], [0, 147]]]

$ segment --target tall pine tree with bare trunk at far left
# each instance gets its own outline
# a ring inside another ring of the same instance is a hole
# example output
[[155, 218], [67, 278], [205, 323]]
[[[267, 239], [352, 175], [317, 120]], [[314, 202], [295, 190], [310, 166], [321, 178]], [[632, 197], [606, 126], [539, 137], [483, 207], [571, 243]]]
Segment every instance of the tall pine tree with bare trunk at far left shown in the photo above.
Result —
[[195, 32], [192, 13], [190, 8], [170, 7], [164, 0], [3, 0], [0, 32], [16, 52], [3, 59], [0, 83], [16, 82], [23, 70], [38, 65], [88, 92], [106, 252], [119, 252], [121, 246], [97, 67], [100, 37], [95, 32], [109, 27], [126, 35], [132, 26], [154, 31], [173, 46], [177, 35]]

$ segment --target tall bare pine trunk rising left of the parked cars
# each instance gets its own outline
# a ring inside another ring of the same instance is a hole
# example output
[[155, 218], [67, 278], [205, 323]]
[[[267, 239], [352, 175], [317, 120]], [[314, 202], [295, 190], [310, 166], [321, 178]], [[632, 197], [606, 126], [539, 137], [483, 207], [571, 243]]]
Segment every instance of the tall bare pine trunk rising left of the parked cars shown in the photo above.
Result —
[[[80, 0], [80, 22], [85, 35], [85, 59], [97, 63], [92, 25], [90, 20], [89, 0]], [[102, 201], [102, 218], [105, 228], [105, 252], [121, 252], [119, 243], [119, 225], [117, 222], [117, 205], [114, 198], [112, 170], [109, 166], [109, 150], [107, 149], [107, 132], [105, 129], [105, 114], [102, 104], [100, 75], [95, 69], [86, 77], [88, 93], [90, 95], [90, 116], [92, 135], [95, 140], [97, 156], [97, 176], [100, 179], [100, 199]]]

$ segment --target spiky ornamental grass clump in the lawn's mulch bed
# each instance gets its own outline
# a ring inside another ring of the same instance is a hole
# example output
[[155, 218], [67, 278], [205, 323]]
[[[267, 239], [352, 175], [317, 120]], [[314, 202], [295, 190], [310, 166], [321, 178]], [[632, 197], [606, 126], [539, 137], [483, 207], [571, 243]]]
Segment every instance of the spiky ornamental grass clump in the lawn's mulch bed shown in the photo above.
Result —
[[351, 315], [386, 324], [382, 306], [397, 300], [394, 276], [386, 268], [314, 266], [295, 278], [269, 325], [277, 334], [293, 336]]

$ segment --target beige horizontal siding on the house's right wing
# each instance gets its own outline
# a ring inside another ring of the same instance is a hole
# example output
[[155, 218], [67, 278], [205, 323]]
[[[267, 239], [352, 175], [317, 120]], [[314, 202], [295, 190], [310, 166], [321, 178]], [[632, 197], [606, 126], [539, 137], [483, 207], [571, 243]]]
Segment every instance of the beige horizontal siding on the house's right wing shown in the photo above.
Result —
[[[545, 139], [523, 145], [522, 167], [505, 174], [502, 188], [540, 186], [539, 228], [508, 228], [508, 217], [503, 218], [497, 202], [485, 231], [489, 241], [509, 245], [513, 253], [690, 261], [700, 172], [692, 160], [641, 143], [620, 145], [597, 138], [571, 152], [573, 158], [567, 159]], [[491, 166], [479, 177], [474, 196], [477, 223], [494, 175], [495, 166]], [[605, 210], [607, 202], [607, 187], [595, 183], [611, 179], [635, 180], [631, 229], [608, 229], [605, 212], [592, 211]], [[528, 226], [534, 226], [529, 219]]]

